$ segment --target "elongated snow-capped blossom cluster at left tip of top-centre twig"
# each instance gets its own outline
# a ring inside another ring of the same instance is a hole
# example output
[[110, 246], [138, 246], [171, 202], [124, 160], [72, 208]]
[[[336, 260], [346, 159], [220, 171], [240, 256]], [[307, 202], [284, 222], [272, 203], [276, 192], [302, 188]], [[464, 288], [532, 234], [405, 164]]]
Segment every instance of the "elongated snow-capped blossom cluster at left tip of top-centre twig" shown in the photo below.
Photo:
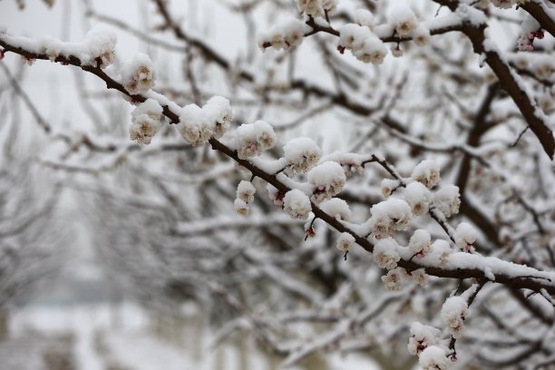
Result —
[[287, 19], [258, 34], [257, 44], [262, 51], [269, 46], [276, 50], [288, 49], [302, 44], [305, 34], [311, 30], [309, 25], [298, 19]]

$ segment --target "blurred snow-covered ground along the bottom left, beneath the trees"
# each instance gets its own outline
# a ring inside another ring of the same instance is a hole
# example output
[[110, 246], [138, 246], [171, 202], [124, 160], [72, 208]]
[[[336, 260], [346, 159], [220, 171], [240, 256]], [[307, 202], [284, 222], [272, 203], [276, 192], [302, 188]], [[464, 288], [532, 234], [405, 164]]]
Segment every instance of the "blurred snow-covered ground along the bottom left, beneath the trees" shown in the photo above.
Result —
[[[279, 369], [248, 340], [239, 346], [210, 349], [205, 327], [184, 327], [161, 336], [152, 318], [132, 304], [32, 306], [11, 318], [11, 333], [0, 342], [0, 370], [203, 370]], [[194, 326], [194, 324], [193, 324]], [[158, 334], [157, 333], [158, 330]], [[242, 355], [241, 355], [242, 354]], [[294, 369], [373, 369], [357, 355], [331, 355], [325, 367]]]

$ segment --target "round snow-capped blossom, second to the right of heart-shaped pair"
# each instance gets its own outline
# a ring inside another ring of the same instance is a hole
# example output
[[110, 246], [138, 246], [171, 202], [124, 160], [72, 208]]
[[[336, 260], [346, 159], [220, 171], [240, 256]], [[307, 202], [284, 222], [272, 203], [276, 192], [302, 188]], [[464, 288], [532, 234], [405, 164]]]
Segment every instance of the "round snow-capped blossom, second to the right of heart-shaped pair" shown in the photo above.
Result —
[[297, 138], [287, 142], [283, 152], [289, 174], [305, 173], [320, 161], [320, 148], [316, 142], [308, 138]]

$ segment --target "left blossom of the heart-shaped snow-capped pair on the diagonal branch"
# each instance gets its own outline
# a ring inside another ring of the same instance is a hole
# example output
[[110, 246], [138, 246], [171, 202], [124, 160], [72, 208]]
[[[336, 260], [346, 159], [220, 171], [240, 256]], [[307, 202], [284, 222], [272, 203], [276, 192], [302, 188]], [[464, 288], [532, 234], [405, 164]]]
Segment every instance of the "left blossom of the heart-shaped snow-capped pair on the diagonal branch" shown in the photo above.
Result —
[[181, 109], [177, 129], [183, 139], [195, 146], [204, 144], [212, 136], [207, 116], [197, 104], [189, 104]]

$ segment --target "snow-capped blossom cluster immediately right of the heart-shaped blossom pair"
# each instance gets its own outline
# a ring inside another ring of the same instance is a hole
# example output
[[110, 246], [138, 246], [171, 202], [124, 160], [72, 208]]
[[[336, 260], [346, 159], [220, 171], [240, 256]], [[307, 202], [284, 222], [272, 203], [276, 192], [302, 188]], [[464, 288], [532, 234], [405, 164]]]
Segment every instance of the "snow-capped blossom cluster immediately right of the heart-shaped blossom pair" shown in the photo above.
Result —
[[236, 131], [235, 143], [238, 157], [246, 160], [272, 149], [276, 144], [276, 132], [264, 121], [243, 123]]

